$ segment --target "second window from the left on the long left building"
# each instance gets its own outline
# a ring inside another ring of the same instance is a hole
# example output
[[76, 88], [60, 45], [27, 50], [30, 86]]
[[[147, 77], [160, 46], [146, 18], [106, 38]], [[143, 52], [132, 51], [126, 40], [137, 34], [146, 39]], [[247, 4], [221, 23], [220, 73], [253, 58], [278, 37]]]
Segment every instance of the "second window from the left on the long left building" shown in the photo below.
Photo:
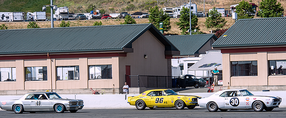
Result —
[[26, 81], [47, 81], [47, 67], [26, 67]]

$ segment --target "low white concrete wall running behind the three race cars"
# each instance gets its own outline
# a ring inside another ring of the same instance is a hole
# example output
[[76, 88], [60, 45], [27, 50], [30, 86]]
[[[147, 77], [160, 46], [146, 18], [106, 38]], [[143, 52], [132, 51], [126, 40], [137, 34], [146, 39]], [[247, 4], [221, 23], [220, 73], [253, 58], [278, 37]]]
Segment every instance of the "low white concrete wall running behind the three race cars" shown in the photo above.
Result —
[[[286, 91], [269, 91], [269, 92], [251, 92], [254, 95], [264, 96], [278, 96], [282, 98], [282, 102], [279, 107], [286, 107]], [[179, 93], [182, 95], [197, 95], [201, 97], [209, 97], [213, 93]], [[139, 94], [128, 94], [129, 96], [137, 96]], [[136, 108], [135, 106], [129, 105], [125, 100], [124, 94], [103, 94], [103, 95], [61, 95], [62, 98], [70, 99], [82, 99], [84, 101], [85, 109], [95, 108]], [[21, 96], [0, 96], [0, 101], [18, 99]]]

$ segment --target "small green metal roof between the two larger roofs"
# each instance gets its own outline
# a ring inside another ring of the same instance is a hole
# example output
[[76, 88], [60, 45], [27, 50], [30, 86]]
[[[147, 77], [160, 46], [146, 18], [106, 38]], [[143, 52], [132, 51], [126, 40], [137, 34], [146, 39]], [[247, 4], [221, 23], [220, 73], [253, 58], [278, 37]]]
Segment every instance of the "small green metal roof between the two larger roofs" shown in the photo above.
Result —
[[165, 36], [177, 49], [180, 55], [195, 55], [212, 38], [214, 34]]

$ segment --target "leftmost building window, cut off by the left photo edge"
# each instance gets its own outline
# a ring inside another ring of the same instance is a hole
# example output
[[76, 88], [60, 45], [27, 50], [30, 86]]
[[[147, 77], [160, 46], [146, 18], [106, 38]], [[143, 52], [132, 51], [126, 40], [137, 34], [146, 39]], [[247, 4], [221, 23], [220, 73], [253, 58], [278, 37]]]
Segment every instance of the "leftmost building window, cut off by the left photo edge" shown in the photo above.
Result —
[[16, 81], [16, 68], [0, 68], [1, 82]]

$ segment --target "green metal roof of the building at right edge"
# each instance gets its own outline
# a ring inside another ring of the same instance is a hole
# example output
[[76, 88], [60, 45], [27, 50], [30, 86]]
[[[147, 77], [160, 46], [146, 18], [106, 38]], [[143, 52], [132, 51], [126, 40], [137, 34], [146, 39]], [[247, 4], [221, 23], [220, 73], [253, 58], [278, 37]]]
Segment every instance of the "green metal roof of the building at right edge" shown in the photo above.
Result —
[[286, 17], [240, 19], [220, 36], [213, 48], [284, 45], [285, 24]]

